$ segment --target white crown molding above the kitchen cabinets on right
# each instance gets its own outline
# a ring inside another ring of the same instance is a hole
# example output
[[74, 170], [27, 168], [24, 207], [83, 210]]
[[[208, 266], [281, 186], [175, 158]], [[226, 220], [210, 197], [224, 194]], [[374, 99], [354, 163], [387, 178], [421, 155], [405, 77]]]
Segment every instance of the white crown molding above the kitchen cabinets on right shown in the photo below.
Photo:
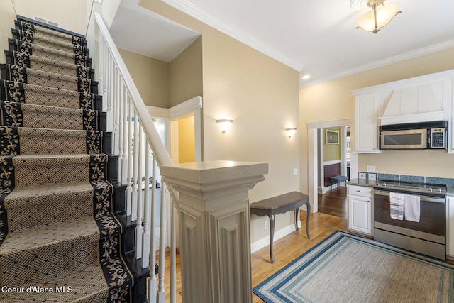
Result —
[[372, 62], [366, 65], [361, 65], [359, 67], [352, 68], [350, 70], [344, 70], [342, 72], [336, 72], [334, 74], [328, 75], [326, 77], [321, 77], [319, 79], [314, 79], [308, 82], [300, 82], [299, 87], [309, 87], [314, 84], [319, 84], [321, 82], [331, 81], [333, 79], [338, 79], [341, 77], [350, 76], [358, 72], [365, 72], [367, 70], [373, 70], [378, 67], [383, 67], [397, 62], [402, 62], [405, 60], [413, 59], [415, 57], [421, 57], [423, 55], [428, 55], [431, 53], [436, 53], [441, 50], [448, 50], [449, 48], [454, 48], [454, 39], [448, 40], [442, 43], [434, 44], [426, 48], [419, 48], [418, 50], [412, 50], [411, 52], [404, 53], [402, 55], [397, 55], [394, 57], [389, 57], [384, 60]]

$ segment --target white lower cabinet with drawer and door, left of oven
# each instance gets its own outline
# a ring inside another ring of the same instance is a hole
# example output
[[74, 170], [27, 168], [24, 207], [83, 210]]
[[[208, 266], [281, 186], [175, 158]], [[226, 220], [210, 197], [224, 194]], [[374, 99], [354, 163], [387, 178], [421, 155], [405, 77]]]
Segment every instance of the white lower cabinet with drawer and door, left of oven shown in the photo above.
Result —
[[372, 236], [372, 188], [348, 185], [348, 229]]

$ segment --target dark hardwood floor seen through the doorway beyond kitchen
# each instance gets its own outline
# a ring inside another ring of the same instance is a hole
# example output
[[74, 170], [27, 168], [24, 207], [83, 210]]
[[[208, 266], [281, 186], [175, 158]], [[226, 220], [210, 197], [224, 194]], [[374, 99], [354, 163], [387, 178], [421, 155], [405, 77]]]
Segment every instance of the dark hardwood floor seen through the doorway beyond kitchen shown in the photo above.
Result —
[[347, 187], [338, 187], [318, 197], [319, 212], [347, 219]]

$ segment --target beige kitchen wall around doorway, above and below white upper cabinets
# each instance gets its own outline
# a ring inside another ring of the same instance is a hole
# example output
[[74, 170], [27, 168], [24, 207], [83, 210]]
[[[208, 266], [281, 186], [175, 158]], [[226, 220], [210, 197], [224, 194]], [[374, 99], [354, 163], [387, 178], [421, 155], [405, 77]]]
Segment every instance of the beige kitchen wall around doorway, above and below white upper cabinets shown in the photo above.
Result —
[[[454, 49], [443, 50], [329, 82], [303, 87], [299, 91], [301, 128], [301, 176], [308, 175], [307, 123], [353, 119], [354, 97], [350, 91], [376, 84], [454, 69]], [[352, 146], [355, 133], [352, 129]], [[454, 155], [439, 151], [385, 151], [359, 154], [358, 170], [375, 165], [377, 172], [436, 177], [454, 177]], [[308, 178], [301, 177], [301, 190], [308, 190]]]

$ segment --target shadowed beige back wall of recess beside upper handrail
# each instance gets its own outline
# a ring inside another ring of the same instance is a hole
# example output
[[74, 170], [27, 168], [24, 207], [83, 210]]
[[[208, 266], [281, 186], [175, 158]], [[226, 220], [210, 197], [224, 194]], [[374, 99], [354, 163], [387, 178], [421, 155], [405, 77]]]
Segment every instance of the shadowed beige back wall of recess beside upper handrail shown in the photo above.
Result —
[[169, 64], [129, 50], [118, 51], [145, 105], [170, 108]]

